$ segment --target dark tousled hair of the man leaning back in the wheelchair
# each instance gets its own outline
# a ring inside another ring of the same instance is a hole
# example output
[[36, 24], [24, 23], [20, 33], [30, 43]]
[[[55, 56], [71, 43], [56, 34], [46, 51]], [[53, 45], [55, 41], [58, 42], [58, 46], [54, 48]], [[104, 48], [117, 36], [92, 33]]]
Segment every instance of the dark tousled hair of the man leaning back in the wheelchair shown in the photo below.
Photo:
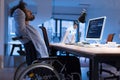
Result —
[[13, 8], [10, 9], [10, 16], [11, 17], [13, 16], [13, 13], [17, 8], [21, 9], [24, 12], [24, 9], [25, 9], [26, 5], [27, 4], [25, 2], [23, 2], [23, 0], [20, 0], [18, 5], [14, 6]]

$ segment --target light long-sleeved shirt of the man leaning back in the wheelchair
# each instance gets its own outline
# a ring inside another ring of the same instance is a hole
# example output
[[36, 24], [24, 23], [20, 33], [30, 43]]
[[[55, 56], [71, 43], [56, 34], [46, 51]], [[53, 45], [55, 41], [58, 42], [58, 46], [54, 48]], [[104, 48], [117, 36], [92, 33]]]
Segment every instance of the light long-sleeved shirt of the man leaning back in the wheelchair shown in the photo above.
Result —
[[25, 13], [20, 9], [16, 9], [13, 13], [13, 17], [15, 20], [16, 35], [25, 37], [20, 41], [23, 44], [32, 41], [35, 49], [41, 55], [41, 57], [49, 57], [47, 47], [39, 32], [31, 25], [25, 24]]

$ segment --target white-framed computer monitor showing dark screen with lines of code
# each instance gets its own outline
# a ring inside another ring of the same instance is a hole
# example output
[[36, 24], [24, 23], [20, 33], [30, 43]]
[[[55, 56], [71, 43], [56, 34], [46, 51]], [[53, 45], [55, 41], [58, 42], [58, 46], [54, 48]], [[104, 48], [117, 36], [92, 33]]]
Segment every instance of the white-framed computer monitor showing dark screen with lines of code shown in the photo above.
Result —
[[86, 40], [101, 40], [106, 17], [89, 19], [86, 33]]

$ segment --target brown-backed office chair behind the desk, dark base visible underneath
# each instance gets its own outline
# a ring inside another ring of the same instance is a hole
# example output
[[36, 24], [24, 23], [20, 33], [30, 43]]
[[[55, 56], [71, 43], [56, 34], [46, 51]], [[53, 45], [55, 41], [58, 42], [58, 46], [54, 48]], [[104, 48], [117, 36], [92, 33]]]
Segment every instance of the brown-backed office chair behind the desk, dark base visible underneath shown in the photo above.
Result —
[[[109, 34], [108, 37], [107, 37], [106, 43], [112, 42], [113, 38], [114, 38], [114, 35], [115, 35], [115, 33]], [[119, 68], [120, 68], [119, 66], [116, 66], [118, 64], [115, 64], [115, 62], [105, 62], [105, 64], [109, 64], [109, 65], [115, 67], [117, 70], [119, 70]], [[119, 80], [119, 77], [116, 76], [112, 71], [107, 70], [107, 69], [103, 69], [103, 64], [100, 63], [100, 74], [102, 74], [102, 72], [106, 72], [106, 73], [109, 73], [111, 75], [111, 76], [105, 77], [104, 80], [108, 80], [108, 79], [117, 79], [117, 80]]]

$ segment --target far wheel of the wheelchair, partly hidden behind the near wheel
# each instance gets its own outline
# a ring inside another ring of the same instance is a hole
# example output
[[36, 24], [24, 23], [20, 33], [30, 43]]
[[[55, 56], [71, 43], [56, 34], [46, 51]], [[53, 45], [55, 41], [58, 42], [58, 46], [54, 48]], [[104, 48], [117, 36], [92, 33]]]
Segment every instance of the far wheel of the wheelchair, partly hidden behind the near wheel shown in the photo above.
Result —
[[15, 70], [14, 80], [18, 80], [18, 77], [26, 68], [27, 68], [27, 63], [26, 62], [21, 63]]

